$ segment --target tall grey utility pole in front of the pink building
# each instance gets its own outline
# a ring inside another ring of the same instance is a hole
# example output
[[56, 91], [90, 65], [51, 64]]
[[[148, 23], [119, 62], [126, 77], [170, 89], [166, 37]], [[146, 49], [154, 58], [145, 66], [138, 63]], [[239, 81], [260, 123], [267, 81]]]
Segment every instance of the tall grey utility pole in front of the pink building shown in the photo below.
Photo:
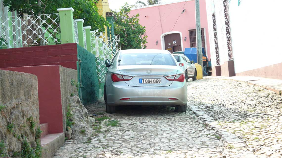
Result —
[[200, 22], [200, 4], [199, 4], [199, 0], [195, 0], [195, 10], [196, 10], [197, 57], [198, 57], [198, 64], [201, 65], [202, 72], [203, 72], [202, 36], [201, 36], [201, 22]]

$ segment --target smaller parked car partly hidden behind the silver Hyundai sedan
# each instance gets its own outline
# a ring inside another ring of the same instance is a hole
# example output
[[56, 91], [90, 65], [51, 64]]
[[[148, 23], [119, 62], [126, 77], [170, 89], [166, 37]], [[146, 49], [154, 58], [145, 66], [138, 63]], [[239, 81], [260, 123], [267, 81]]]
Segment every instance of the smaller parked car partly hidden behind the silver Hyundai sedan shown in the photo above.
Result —
[[186, 82], [188, 82], [189, 78], [192, 78], [193, 81], [197, 80], [197, 69], [194, 65], [194, 61], [190, 61], [190, 59], [183, 54], [173, 54], [173, 56], [185, 73]]

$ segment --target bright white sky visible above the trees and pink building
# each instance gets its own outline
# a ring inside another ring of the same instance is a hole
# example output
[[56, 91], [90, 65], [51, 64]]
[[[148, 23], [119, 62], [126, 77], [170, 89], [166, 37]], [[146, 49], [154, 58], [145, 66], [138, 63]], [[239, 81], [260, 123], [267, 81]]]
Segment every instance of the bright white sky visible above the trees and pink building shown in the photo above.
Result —
[[[135, 5], [138, 0], [108, 0], [111, 10], [118, 10], [119, 7], [124, 6], [127, 2], [129, 5]], [[141, 0], [147, 4], [147, 0]], [[173, 3], [180, 0], [161, 0], [161, 3]]]

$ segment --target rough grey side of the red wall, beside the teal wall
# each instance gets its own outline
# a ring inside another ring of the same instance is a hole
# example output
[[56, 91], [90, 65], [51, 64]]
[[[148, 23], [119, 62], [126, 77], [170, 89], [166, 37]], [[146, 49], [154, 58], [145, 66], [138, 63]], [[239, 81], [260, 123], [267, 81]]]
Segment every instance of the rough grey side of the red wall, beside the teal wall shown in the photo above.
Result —
[[70, 93], [78, 94], [76, 87], [72, 86], [70, 81], [75, 80], [77, 82], [77, 71], [72, 68], [65, 68], [60, 66], [60, 86], [61, 86], [61, 102], [63, 112], [63, 128], [66, 131], [66, 113], [67, 106], [69, 104]]

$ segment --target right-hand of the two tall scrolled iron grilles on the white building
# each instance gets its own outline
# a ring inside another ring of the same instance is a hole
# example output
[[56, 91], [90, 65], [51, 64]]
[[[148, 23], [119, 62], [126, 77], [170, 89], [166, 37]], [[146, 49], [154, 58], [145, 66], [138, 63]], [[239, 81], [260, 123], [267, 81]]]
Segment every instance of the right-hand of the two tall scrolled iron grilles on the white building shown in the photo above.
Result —
[[227, 49], [228, 49], [228, 60], [233, 60], [232, 39], [231, 39], [228, 3], [229, 3], [229, 0], [223, 0], [225, 31], [226, 31], [226, 40], [227, 40]]

